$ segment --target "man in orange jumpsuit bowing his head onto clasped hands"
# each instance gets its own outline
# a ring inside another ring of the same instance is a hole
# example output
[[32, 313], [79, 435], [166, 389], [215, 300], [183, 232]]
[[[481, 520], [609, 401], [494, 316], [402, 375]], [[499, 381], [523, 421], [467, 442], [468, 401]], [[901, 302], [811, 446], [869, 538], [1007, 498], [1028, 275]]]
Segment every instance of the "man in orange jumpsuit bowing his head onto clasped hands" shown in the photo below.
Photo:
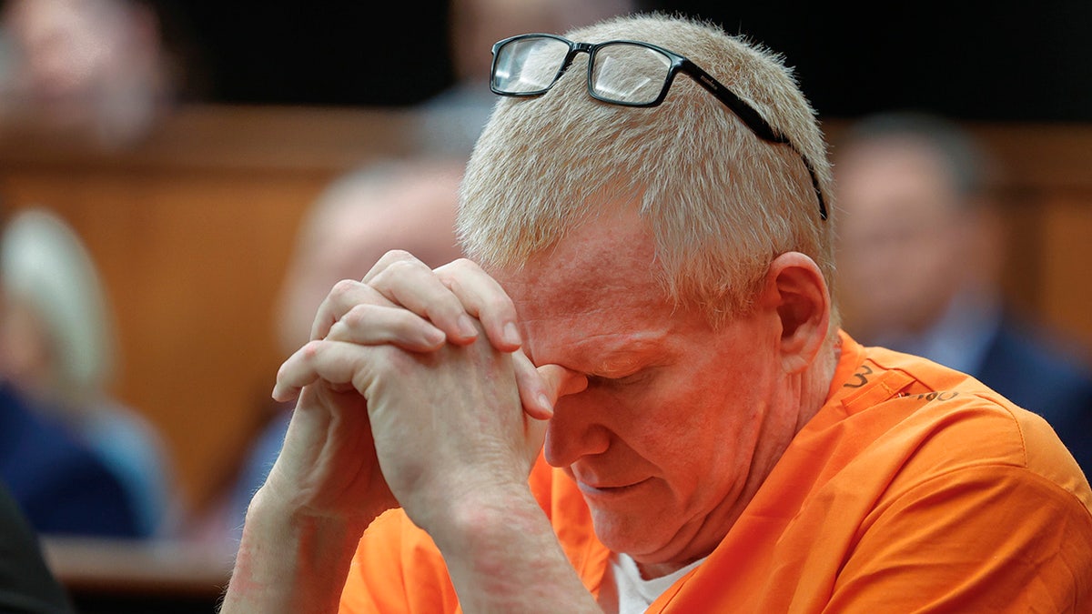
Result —
[[657, 15], [567, 39], [494, 48], [470, 259], [384, 256], [282, 366], [223, 612], [1092, 605], [1092, 492], [1046, 423], [840, 332], [776, 56]]

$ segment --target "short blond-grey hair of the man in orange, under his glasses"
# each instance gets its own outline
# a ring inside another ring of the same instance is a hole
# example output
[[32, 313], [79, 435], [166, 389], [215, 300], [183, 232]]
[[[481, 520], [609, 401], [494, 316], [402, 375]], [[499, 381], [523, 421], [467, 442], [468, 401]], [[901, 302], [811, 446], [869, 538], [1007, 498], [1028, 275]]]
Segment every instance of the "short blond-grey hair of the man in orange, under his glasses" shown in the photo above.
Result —
[[[790, 138], [833, 205], [827, 144], [781, 56], [662, 13], [606, 20], [567, 37], [643, 40], [691, 59]], [[810, 256], [832, 285], [833, 227], [792, 147], [759, 139], [681, 73], [657, 107], [595, 101], [586, 62], [578, 55], [545, 95], [498, 102], [462, 187], [458, 228], [467, 255], [520, 265], [593, 222], [595, 206], [638, 200], [665, 287], [714, 321], [747, 309], [770, 261], [785, 251]]]

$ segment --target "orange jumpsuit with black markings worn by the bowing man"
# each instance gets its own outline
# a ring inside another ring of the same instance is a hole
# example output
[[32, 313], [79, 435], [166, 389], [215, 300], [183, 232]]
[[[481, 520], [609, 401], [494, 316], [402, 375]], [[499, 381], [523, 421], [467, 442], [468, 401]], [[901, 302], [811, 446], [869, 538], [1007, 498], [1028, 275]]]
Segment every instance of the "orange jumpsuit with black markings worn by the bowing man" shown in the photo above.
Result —
[[[826, 404], [649, 612], [1092, 613], [1092, 491], [1046, 422], [961, 373], [841, 340]], [[597, 593], [609, 552], [579, 491], [542, 459], [531, 485]], [[341, 611], [460, 609], [431, 540], [392, 510], [361, 539]]]

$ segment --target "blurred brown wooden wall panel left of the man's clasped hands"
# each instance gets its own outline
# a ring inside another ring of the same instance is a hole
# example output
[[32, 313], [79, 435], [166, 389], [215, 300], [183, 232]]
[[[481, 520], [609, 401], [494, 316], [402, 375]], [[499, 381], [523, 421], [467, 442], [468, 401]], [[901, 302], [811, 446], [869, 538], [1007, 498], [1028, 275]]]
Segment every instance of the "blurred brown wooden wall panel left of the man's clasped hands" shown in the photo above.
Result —
[[9, 139], [0, 199], [84, 238], [120, 340], [118, 397], [163, 432], [201, 510], [235, 470], [283, 358], [273, 300], [297, 224], [339, 174], [399, 155], [399, 116], [194, 108], [135, 151]]

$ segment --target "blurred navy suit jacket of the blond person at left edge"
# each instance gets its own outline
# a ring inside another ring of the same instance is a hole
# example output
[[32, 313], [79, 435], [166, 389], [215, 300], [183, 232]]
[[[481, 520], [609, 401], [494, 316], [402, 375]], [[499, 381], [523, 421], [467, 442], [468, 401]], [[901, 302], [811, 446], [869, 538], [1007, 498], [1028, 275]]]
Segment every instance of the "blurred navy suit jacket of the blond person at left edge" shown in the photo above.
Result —
[[38, 533], [134, 538], [121, 483], [60, 423], [0, 383], [0, 480]]

